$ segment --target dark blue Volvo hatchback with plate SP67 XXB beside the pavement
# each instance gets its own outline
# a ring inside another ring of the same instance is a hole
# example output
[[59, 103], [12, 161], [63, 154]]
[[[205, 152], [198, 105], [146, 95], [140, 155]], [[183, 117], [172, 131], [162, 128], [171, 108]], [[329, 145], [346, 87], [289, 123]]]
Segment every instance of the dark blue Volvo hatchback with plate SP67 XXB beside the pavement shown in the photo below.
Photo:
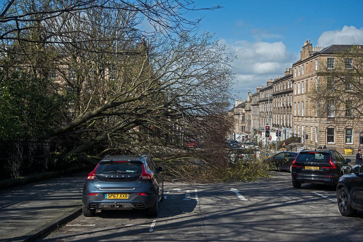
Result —
[[107, 155], [86, 178], [82, 194], [85, 217], [97, 209], [146, 209], [158, 215], [163, 200], [163, 168], [147, 155]]

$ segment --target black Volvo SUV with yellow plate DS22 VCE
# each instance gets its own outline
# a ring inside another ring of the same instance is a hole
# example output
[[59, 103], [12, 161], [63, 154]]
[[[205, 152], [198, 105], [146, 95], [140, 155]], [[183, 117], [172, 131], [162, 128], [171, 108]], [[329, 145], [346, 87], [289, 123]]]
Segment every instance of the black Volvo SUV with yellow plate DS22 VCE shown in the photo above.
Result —
[[351, 160], [336, 150], [302, 150], [291, 165], [294, 188], [302, 183], [336, 185], [340, 176], [350, 174]]

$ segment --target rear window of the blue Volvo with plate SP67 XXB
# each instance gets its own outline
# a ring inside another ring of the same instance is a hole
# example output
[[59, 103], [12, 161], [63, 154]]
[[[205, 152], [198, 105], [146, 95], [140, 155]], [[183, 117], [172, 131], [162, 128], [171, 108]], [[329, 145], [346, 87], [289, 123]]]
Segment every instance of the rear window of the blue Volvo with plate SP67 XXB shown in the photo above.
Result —
[[141, 162], [105, 162], [100, 163], [97, 174], [141, 174]]

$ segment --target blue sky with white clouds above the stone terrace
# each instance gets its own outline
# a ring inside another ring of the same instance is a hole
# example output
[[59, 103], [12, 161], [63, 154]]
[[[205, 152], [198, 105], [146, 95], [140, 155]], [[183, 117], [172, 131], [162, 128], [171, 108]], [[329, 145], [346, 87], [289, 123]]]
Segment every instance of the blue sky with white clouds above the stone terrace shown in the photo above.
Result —
[[[237, 55], [233, 93], [246, 99], [257, 85], [283, 76], [307, 39], [313, 46], [363, 44], [363, 1], [195, 0], [196, 8], [222, 5], [204, 16], [200, 32], [215, 33]], [[239, 93], [238, 93], [239, 92]], [[234, 98], [236, 98], [234, 97]]]

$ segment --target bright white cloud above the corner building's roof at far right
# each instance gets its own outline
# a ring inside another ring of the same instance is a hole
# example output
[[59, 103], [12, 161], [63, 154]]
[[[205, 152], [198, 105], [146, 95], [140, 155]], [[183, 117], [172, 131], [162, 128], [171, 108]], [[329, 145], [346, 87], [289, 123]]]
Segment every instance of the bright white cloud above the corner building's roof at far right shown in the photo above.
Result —
[[351, 45], [363, 43], [363, 28], [355, 26], [343, 26], [342, 30], [331, 30], [322, 33], [318, 38], [318, 46], [328, 47], [330, 45]]

